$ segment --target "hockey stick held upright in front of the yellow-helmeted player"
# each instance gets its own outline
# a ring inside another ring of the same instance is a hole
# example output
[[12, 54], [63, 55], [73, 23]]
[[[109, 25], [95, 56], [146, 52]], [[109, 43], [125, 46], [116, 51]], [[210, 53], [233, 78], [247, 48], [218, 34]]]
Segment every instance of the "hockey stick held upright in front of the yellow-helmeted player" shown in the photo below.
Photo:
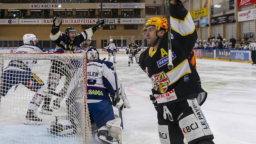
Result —
[[168, 20], [168, 68], [170, 70], [173, 69], [173, 64], [172, 64], [172, 43], [171, 43], [171, 16], [170, 16], [170, 9], [169, 9], [169, 0], [166, 0], [166, 18]]

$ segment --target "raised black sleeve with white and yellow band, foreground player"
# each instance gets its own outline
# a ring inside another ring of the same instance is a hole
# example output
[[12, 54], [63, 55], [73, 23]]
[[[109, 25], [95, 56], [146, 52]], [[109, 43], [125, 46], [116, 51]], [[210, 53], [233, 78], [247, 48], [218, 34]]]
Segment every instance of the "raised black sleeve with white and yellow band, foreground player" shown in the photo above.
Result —
[[171, 33], [178, 35], [177, 39], [184, 45], [188, 58], [198, 36], [190, 13], [184, 8], [180, 0], [177, 2], [177, 5], [170, 5]]

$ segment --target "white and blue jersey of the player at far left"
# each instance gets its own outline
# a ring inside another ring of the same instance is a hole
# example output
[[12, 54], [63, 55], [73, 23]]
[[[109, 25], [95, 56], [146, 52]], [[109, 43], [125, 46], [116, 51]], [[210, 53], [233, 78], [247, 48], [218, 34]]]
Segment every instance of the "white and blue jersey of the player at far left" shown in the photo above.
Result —
[[[25, 44], [18, 47], [15, 53], [27, 54], [27, 53], [48, 53], [48, 52], [45, 52], [43, 48], [38, 45]], [[9, 62], [5, 70], [31, 71], [33, 65], [36, 63], [37, 61], [33, 61], [33, 60], [12, 60]]]

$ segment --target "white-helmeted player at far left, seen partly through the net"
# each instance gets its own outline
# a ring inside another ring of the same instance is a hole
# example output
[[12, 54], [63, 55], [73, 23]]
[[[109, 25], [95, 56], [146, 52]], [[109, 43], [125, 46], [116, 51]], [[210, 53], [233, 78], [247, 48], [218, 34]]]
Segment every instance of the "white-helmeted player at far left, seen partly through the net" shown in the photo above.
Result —
[[[24, 45], [18, 47], [15, 53], [49, 53], [42, 47], [37, 46], [38, 39], [34, 34], [23, 36]], [[29, 103], [24, 124], [40, 125], [42, 119], [37, 117], [36, 111], [40, 107], [44, 97], [49, 97], [43, 81], [31, 71], [37, 61], [33, 60], [11, 60], [3, 71], [2, 96], [8, 94], [9, 89], [14, 85], [22, 84], [31, 91], [36, 92]]]

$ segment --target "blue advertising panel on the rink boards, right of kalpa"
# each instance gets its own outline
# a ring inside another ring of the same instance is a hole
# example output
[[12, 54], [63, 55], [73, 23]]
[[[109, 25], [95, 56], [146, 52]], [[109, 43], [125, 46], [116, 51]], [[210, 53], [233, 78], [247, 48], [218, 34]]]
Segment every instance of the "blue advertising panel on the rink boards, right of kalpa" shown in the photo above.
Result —
[[230, 50], [230, 58], [232, 60], [250, 61], [249, 53], [249, 50]]

